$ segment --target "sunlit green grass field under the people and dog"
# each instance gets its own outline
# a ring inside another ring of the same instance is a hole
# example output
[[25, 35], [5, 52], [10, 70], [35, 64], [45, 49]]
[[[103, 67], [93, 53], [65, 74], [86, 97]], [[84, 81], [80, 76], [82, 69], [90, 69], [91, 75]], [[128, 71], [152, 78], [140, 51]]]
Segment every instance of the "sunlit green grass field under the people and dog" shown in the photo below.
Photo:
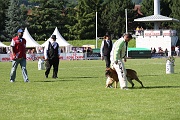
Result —
[[[29, 61], [30, 83], [20, 67], [9, 82], [11, 62], [0, 62], [0, 120], [179, 120], [180, 58], [166, 74], [166, 59], [128, 59], [145, 88], [105, 88], [105, 62], [60, 61], [59, 78], [44, 78], [37, 61]], [[52, 75], [52, 72], [51, 74]], [[130, 84], [128, 84], [130, 87]]]

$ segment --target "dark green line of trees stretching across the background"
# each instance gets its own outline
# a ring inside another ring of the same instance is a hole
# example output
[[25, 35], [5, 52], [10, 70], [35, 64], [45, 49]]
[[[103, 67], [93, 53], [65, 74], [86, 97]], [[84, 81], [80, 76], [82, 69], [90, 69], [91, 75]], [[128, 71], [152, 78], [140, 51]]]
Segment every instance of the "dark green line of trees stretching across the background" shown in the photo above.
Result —
[[[180, 19], [179, 0], [160, 0], [161, 14]], [[141, 12], [134, 10], [132, 0], [0, 0], [0, 40], [9, 41], [19, 28], [27, 27], [32, 37], [43, 41], [58, 27], [67, 40], [95, 39], [96, 12], [98, 36], [118, 38], [125, 32], [125, 9], [128, 13], [128, 32], [137, 26], [153, 28], [152, 23], [134, 19], [153, 15], [154, 0], [143, 0]], [[180, 31], [179, 23], [163, 22], [165, 28]]]

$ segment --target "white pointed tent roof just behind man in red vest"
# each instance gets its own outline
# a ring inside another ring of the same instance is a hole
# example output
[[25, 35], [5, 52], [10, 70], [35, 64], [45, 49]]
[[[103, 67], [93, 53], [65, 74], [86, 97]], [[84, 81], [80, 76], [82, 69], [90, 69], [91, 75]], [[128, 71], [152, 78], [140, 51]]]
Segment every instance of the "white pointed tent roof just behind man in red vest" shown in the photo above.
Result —
[[29, 34], [27, 28], [24, 30], [23, 38], [26, 39], [26, 47], [37, 47], [40, 46]]

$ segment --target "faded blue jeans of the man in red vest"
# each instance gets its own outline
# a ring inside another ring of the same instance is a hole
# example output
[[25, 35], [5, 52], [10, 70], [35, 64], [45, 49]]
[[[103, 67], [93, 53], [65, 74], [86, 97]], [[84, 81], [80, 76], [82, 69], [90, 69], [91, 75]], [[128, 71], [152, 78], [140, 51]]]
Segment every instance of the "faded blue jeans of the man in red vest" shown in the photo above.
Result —
[[21, 66], [22, 76], [23, 76], [24, 82], [26, 82], [28, 80], [28, 75], [27, 75], [27, 70], [26, 70], [26, 59], [24, 59], [24, 58], [16, 59], [16, 60], [12, 61], [10, 80], [15, 81], [16, 69], [17, 69], [18, 64], [20, 64], [20, 66]]

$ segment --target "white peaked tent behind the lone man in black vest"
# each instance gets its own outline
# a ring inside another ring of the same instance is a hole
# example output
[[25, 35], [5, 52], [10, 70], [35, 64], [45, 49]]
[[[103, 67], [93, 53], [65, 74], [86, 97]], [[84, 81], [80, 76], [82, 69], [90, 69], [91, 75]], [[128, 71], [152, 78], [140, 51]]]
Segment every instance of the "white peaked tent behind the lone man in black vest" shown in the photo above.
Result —
[[[61, 34], [59, 33], [59, 30], [57, 29], [57, 27], [55, 28], [54, 32], [52, 35], [56, 35], [56, 42], [59, 44], [59, 47], [60, 48], [64, 48], [64, 51], [67, 53], [67, 52], [70, 52], [71, 51], [71, 47], [72, 45], [69, 44], [62, 36]], [[48, 44], [48, 41], [51, 39], [51, 37], [46, 41], [44, 42], [41, 46], [45, 46], [46, 44]]]

